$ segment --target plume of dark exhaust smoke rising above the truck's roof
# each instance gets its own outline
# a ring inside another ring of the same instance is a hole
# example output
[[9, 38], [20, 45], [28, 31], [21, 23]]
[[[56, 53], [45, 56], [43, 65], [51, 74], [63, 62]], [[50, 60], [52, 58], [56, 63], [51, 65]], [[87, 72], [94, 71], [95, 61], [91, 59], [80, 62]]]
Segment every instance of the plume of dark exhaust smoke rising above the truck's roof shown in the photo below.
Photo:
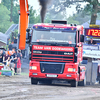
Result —
[[50, 3], [51, 0], [39, 0], [40, 5], [41, 5], [41, 11], [40, 11], [40, 15], [41, 15], [41, 22], [44, 23], [44, 18], [45, 18], [45, 14], [47, 11], [47, 5]]

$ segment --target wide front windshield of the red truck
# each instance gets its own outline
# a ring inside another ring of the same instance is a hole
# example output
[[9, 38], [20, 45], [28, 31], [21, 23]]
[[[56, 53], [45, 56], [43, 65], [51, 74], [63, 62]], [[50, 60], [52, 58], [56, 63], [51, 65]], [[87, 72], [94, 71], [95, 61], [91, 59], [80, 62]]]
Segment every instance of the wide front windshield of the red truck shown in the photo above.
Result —
[[33, 31], [32, 42], [76, 43], [76, 32]]

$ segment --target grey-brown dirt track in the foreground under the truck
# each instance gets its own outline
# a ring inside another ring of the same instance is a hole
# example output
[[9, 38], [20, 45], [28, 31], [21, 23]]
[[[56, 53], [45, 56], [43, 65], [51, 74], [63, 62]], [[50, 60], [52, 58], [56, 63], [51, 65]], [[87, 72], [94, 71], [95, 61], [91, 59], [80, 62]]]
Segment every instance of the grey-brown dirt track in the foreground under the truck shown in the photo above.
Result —
[[0, 100], [100, 100], [100, 85], [31, 85], [28, 75], [0, 76]]

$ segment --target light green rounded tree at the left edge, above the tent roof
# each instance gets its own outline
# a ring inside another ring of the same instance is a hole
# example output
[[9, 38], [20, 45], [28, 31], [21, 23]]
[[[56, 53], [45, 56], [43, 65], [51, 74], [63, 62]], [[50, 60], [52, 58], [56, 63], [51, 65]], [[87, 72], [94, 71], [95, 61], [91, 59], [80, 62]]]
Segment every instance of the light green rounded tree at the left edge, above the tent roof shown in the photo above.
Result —
[[0, 4], [0, 31], [5, 32], [13, 22], [10, 22], [10, 11], [2, 4]]

